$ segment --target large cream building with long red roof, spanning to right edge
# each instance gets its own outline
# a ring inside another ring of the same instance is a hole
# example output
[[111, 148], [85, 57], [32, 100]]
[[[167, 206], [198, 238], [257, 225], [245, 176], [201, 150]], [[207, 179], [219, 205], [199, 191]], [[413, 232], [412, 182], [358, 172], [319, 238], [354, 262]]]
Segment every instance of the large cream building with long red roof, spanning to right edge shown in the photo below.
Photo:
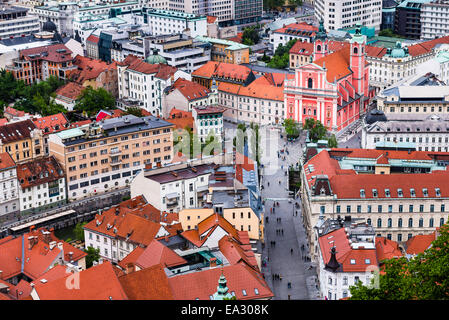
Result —
[[364, 218], [376, 236], [398, 243], [447, 221], [449, 153], [310, 146], [305, 159], [302, 213], [314, 260], [320, 215]]

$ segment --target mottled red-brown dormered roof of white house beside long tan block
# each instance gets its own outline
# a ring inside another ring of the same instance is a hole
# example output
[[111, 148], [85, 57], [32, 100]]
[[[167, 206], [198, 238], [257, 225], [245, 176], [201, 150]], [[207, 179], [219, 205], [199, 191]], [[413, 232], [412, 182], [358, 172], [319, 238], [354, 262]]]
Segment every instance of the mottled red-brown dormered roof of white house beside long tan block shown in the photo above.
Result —
[[56, 181], [63, 177], [64, 171], [54, 156], [17, 165], [17, 180], [22, 189]]

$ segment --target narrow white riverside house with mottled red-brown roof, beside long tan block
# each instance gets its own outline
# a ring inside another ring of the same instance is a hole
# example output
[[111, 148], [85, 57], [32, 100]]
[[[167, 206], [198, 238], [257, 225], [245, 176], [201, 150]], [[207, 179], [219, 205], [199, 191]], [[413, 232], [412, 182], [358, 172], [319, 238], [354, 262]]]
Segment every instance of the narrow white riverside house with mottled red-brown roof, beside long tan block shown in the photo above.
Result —
[[35, 213], [66, 202], [65, 173], [55, 157], [17, 165], [21, 213]]

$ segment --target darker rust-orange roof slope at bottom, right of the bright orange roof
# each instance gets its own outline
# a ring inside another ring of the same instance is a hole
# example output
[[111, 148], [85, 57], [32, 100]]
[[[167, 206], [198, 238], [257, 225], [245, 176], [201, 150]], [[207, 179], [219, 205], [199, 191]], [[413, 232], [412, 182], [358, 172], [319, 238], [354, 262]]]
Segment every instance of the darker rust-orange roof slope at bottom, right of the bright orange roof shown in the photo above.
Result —
[[173, 300], [173, 292], [161, 265], [121, 276], [120, 283], [130, 300]]

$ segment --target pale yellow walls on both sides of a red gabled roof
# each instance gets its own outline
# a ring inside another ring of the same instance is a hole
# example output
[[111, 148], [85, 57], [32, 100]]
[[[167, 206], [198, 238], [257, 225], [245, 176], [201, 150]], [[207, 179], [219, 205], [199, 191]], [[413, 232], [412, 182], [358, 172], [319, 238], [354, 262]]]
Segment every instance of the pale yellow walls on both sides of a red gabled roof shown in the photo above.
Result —
[[[192, 230], [212, 214], [214, 214], [212, 208], [184, 209], [179, 211], [179, 222], [183, 230]], [[248, 231], [250, 239], [263, 240], [263, 217], [259, 219], [250, 207], [223, 209], [223, 217], [236, 230]]]

